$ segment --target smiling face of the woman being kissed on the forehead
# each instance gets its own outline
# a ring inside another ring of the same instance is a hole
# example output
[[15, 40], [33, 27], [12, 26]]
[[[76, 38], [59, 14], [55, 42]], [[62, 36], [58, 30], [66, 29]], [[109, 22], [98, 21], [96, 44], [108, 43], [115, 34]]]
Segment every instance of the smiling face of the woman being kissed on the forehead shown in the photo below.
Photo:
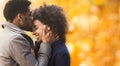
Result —
[[42, 29], [44, 28], [44, 24], [39, 20], [34, 20], [33, 24], [33, 35], [36, 36], [36, 39], [39, 42], [42, 40]]

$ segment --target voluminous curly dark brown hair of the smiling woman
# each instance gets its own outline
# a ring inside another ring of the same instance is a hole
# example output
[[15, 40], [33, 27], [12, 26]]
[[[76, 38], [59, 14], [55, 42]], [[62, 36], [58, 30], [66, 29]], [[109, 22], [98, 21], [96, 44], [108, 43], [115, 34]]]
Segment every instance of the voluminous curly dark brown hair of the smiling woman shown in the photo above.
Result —
[[35, 9], [33, 13], [34, 20], [41, 21], [43, 24], [49, 26], [54, 33], [58, 34], [61, 39], [66, 40], [65, 35], [68, 25], [61, 7], [44, 4], [38, 9]]

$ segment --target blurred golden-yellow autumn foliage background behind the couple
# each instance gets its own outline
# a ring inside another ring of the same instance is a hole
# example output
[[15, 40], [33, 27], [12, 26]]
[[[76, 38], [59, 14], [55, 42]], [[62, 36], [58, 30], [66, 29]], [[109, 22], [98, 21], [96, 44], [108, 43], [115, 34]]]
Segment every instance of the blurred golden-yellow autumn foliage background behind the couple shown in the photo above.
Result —
[[[30, 1], [32, 10], [43, 2], [64, 9], [69, 24], [66, 45], [71, 66], [120, 66], [120, 0]], [[0, 0], [0, 23], [5, 22], [6, 2]]]

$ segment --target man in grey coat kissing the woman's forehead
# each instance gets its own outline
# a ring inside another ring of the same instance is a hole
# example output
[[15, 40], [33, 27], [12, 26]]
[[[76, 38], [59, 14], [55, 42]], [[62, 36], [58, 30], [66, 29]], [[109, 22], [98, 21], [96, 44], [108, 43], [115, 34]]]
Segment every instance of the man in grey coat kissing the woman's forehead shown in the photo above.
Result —
[[23, 32], [32, 31], [30, 4], [28, 0], [9, 0], [5, 5], [4, 17], [7, 22], [2, 25], [4, 30], [0, 33], [0, 66], [46, 66], [48, 63], [50, 44], [56, 40], [56, 36], [42, 29], [42, 43], [35, 58], [31, 52], [31, 41], [26, 39], [27, 35]]

